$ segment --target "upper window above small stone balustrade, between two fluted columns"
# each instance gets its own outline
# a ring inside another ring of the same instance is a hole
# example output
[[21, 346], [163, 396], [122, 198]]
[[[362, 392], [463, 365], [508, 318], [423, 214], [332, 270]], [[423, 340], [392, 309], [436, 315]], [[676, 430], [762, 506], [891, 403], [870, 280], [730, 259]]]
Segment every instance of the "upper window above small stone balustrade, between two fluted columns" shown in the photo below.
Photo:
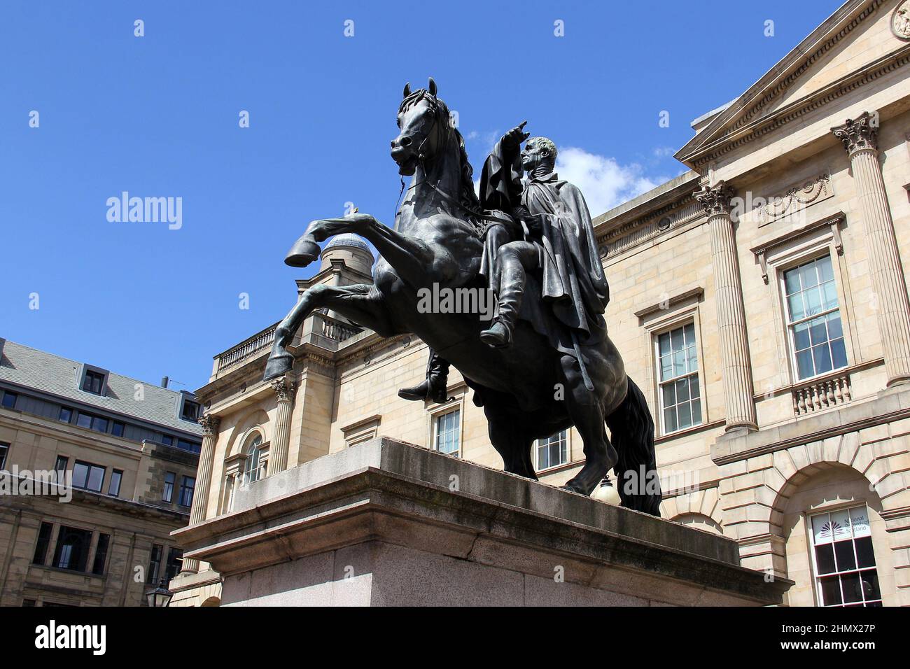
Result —
[[831, 256], [784, 272], [787, 329], [796, 374], [809, 379], [847, 365]]

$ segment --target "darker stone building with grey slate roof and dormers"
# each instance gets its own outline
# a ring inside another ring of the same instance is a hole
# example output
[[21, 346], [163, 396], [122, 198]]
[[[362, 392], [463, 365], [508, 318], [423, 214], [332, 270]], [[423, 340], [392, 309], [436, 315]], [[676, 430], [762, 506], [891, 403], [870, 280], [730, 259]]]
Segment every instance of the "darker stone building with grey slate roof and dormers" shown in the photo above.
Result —
[[145, 605], [180, 569], [199, 411], [192, 393], [0, 339], [0, 605]]

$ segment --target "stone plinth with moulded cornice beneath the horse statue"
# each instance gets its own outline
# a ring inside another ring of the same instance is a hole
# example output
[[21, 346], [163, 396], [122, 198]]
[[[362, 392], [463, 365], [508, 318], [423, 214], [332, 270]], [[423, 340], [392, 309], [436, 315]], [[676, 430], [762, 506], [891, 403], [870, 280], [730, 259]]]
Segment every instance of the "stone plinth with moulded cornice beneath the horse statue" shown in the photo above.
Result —
[[175, 537], [235, 605], [762, 605], [792, 584], [730, 539], [386, 438]]

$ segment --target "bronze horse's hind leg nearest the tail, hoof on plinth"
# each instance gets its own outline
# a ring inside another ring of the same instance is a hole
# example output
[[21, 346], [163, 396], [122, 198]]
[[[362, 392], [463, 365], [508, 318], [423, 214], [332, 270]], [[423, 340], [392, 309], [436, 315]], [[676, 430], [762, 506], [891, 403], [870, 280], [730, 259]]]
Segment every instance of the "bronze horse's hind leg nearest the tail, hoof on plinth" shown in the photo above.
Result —
[[578, 362], [567, 355], [563, 356], [561, 366], [566, 382], [566, 409], [584, 445], [584, 466], [562, 487], [590, 495], [619, 460], [619, 455], [607, 438], [600, 400], [596, 393], [584, 387]]

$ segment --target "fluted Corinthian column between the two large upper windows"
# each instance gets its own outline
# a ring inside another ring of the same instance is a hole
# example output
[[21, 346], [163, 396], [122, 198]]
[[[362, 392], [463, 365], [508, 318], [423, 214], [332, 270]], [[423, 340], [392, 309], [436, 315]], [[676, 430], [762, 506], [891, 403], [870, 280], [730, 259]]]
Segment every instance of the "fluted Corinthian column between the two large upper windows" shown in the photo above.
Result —
[[711, 264], [714, 273], [714, 300], [717, 305], [717, 331], [721, 342], [726, 430], [755, 430], [743, 284], [736, 255], [733, 219], [730, 217], [733, 188], [721, 181], [714, 188], [705, 186], [701, 193], [695, 194], [695, 198], [708, 215], [708, 227], [711, 230]]

